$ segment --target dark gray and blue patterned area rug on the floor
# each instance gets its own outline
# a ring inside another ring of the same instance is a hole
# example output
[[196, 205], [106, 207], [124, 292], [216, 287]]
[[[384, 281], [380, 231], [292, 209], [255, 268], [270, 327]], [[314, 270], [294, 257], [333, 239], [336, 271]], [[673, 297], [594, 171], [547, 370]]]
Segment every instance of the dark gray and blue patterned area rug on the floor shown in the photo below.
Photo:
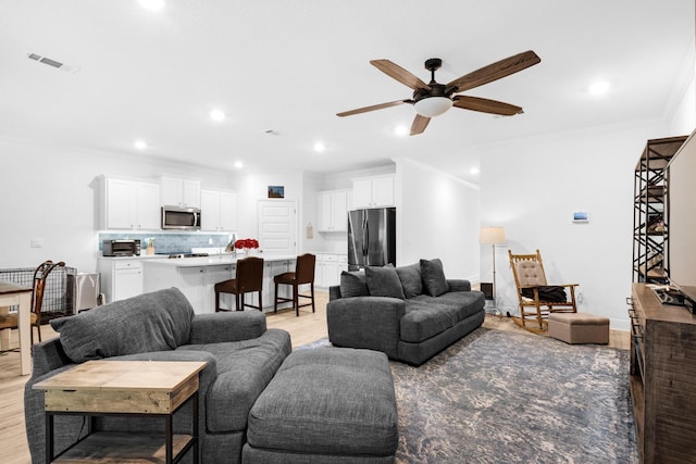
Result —
[[638, 462], [627, 351], [480, 328], [390, 364], [399, 463]]

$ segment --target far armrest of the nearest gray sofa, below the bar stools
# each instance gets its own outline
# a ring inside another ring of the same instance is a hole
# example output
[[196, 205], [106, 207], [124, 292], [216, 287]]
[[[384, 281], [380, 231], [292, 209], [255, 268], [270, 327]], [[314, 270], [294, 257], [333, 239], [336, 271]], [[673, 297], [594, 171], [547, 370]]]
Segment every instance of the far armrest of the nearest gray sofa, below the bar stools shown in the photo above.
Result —
[[249, 340], [265, 331], [265, 316], [260, 311], [196, 314], [191, 321], [190, 344]]

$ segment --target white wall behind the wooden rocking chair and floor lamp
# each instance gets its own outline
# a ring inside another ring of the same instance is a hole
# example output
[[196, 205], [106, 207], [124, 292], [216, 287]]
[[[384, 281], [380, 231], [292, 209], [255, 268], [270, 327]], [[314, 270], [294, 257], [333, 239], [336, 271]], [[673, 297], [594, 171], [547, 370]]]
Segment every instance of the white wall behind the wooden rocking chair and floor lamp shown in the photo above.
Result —
[[[539, 249], [549, 285], [580, 284], [579, 311], [629, 328], [634, 168], [647, 139], [670, 135], [666, 123], [650, 121], [481, 149], [482, 224], [504, 226], [508, 240], [496, 264], [504, 313], [519, 314], [507, 250]], [[574, 224], [575, 211], [589, 222]], [[481, 251], [482, 275], [489, 275], [490, 248]]]

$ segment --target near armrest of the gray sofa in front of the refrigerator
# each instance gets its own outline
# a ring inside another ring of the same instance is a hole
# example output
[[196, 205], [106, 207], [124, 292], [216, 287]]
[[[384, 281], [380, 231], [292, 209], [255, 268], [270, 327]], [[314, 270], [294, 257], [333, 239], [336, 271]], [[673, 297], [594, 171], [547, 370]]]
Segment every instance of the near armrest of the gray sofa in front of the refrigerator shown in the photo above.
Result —
[[353, 297], [326, 304], [328, 339], [338, 347], [368, 348], [397, 358], [403, 300]]

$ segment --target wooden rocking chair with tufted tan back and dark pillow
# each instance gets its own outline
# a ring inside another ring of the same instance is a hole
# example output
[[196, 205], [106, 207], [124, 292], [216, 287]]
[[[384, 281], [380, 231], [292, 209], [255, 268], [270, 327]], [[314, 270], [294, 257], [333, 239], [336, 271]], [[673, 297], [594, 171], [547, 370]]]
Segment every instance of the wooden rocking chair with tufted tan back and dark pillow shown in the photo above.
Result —
[[[514, 276], [514, 285], [518, 290], [518, 300], [520, 302], [520, 322], [519, 324], [531, 331], [543, 331], [548, 324], [549, 313], [576, 313], [577, 304], [575, 302], [575, 287], [579, 284], [554, 284], [555, 286], [569, 289], [570, 299], [567, 301], [545, 301], [539, 298], [539, 287], [548, 286], [546, 274], [544, 273], [544, 262], [539, 250], [535, 254], [512, 254], [510, 255], [510, 267]], [[527, 296], [523, 294], [523, 290]], [[531, 294], [531, 296], [530, 296]], [[527, 326], [527, 323], [532, 323]]]

